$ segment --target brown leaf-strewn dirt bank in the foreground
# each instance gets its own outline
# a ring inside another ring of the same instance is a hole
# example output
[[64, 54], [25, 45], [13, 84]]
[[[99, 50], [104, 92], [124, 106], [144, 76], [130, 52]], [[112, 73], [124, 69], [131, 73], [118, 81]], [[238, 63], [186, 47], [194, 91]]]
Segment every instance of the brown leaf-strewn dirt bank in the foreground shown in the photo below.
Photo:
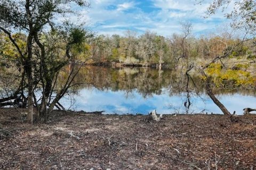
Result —
[[101, 115], [54, 111], [22, 123], [0, 109], [0, 169], [256, 169], [256, 115]]

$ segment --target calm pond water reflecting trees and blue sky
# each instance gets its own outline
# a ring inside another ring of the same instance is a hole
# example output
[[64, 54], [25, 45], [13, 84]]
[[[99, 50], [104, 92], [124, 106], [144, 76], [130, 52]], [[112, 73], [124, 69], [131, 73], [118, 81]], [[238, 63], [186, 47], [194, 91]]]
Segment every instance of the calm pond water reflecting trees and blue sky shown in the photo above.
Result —
[[[189, 113], [221, 114], [220, 109], [205, 95], [204, 85], [198, 76], [193, 76], [197, 87], [189, 84], [191, 106]], [[61, 100], [63, 106], [75, 111], [105, 111], [107, 114], [186, 113], [184, 103], [186, 77], [180, 71], [149, 68], [113, 69], [84, 67], [76, 82], [88, 83], [74, 89], [75, 94]], [[214, 94], [230, 113], [243, 113], [245, 107], [255, 107], [255, 90], [213, 89]], [[197, 92], [197, 94], [196, 94]]]

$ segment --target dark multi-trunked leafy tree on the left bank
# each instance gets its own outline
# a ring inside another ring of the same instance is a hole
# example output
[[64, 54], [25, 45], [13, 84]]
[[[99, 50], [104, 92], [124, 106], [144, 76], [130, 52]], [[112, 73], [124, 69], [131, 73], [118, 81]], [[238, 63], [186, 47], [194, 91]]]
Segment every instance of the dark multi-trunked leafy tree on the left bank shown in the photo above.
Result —
[[[26, 1], [13, 1], [2, 0], [0, 2], [0, 30], [9, 38], [15, 50], [19, 54], [19, 59], [22, 65], [22, 69], [26, 74], [27, 89], [28, 89], [28, 115], [27, 120], [33, 123], [33, 100], [36, 101], [34, 89], [39, 82], [42, 83], [42, 100], [41, 105], [38, 106], [37, 121], [40, 114], [44, 114], [47, 118], [47, 100], [52, 90], [52, 80], [56, 77], [60, 69], [72, 60], [70, 55], [70, 48], [75, 44], [80, 44], [84, 38], [84, 32], [81, 29], [68, 29], [70, 33], [66, 37], [66, 60], [49, 67], [49, 58], [52, 56], [46, 53], [45, 42], [42, 41], [43, 31], [51, 28], [62, 29], [65, 32], [65, 26], [69, 24], [56, 23], [55, 16], [66, 14], [75, 14], [75, 11], [70, 10], [68, 5], [70, 3], [76, 3], [78, 6], [87, 7], [89, 4], [84, 0], [26, 0]], [[65, 7], [66, 6], [66, 7]], [[26, 34], [26, 50], [22, 51], [17, 43], [17, 40], [13, 37], [12, 32], [23, 32]], [[61, 31], [60, 31], [61, 32]], [[67, 31], [66, 31], [67, 32]], [[36, 61], [39, 61], [35, 64]], [[39, 75], [37, 79], [36, 75]], [[60, 97], [65, 94], [67, 87], [71, 84], [72, 76], [66, 82], [66, 86], [62, 87], [57, 93], [57, 97], [53, 100], [53, 104], [56, 103]], [[50, 106], [50, 109], [53, 106]], [[51, 111], [50, 111], [51, 112]]]

